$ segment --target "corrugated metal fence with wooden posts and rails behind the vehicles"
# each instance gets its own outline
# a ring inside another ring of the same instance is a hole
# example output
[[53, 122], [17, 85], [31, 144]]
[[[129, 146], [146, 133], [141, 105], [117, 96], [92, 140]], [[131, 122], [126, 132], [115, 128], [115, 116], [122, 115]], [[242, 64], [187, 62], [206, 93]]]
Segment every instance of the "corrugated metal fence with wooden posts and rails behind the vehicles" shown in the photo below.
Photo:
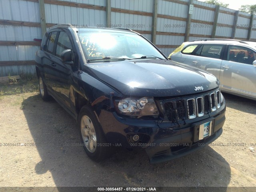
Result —
[[130, 28], [167, 56], [199, 38], [256, 40], [256, 16], [196, 0], [0, 0], [0, 76], [34, 74], [34, 38], [64, 23]]

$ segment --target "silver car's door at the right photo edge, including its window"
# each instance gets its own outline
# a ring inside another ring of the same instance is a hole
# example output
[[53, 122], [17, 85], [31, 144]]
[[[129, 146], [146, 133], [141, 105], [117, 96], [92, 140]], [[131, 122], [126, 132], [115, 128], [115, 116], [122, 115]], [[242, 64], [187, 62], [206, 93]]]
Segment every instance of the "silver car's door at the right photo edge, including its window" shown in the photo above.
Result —
[[256, 52], [248, 47], [228, 45], [220, 70], [220, 87], [256, 97]]

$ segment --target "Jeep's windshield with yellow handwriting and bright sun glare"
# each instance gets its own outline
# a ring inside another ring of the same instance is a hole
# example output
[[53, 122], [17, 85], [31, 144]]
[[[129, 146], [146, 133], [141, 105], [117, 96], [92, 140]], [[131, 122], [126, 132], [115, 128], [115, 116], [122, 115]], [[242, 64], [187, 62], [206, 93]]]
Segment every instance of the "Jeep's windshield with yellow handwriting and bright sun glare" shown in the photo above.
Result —
[[[162, 54], [137, 34], [118, 32], [79, 32], [85, 58], [118, 60], [134, 58], [161, 58]], [[145, 57], [146, 56], [146, 57]]]

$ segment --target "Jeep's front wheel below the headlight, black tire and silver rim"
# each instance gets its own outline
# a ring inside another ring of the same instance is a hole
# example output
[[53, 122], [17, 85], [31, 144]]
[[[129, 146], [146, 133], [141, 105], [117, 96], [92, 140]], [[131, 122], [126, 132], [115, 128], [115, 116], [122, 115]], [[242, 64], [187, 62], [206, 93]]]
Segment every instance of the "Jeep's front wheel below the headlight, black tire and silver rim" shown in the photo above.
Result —
[[80, 110], [78, 129], [84, 150], [92, 160], [101, 161], [111, 155], [111, 144], [106, 142], [100, 123], [88, 106], [83, 106]]

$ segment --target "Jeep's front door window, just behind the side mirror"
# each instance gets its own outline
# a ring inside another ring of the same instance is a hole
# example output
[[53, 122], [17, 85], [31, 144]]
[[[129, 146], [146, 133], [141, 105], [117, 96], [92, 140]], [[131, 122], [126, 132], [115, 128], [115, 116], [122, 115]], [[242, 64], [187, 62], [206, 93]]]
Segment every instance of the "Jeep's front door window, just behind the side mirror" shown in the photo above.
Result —
[[56, 56], [60, 57], [60, 54], [62, 51], [66, 49], [72, 50], [72, 44], [70, 42], [70, 38], [68, 37], [68, 34], [66, 32], [60, 32], [57, 46], [56, 46]]

